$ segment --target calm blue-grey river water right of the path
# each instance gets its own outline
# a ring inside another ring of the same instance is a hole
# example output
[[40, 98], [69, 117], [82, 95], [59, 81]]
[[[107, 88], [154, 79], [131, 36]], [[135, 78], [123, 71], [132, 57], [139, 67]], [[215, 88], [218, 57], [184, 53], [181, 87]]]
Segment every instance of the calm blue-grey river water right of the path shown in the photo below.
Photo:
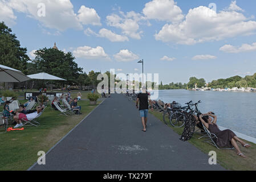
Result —
[[256, 138], [256, 92], [159, 90], [159, 99], [182, 106], [192, 100], [201, 113], [213, 111], [218, 125]]

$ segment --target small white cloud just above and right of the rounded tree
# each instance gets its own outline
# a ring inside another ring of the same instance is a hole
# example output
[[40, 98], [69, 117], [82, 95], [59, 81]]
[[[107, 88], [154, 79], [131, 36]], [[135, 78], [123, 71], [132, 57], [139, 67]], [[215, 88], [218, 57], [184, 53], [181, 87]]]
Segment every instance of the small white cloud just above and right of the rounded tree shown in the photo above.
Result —
[[89, 46], [78, 47], [73, 51], [76, 57], [84, 59], [109, 59], [109, 56], [105, 53], [103, 47], [97, 46], [92, 48]]

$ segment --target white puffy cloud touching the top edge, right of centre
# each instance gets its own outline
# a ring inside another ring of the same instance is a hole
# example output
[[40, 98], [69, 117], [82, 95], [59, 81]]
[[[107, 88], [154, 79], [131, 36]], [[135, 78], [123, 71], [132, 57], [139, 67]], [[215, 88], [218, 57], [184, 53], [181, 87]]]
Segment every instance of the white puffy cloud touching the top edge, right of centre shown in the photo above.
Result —
[[180, 7], [174, 0], [153, 0], [145, 4], [143, 14], [148, 19], [179, 22], [184, 18]]

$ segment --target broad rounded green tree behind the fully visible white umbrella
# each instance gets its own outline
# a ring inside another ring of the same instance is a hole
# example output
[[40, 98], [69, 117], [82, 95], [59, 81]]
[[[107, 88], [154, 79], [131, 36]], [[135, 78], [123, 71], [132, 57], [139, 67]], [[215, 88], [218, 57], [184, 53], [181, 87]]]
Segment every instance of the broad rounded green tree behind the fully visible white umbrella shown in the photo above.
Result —
[[68, 84], [74, 84], [78, 83], [78, 77], [83, 71], [74, 60], [75, 57], [71, 52], [64, 53], [54, 48], [43, 48], [35, 52], [32, 63], [36, 65], [37, 72], [58, 76], [66, 79]]

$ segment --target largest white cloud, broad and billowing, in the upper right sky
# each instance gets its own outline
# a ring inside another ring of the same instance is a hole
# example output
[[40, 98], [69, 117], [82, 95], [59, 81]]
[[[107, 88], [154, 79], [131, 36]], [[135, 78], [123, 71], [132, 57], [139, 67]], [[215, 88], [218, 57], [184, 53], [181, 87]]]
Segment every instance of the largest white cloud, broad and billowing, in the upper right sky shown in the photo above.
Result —
[[248, 20], [242, 13], [234, 10], [217, 13], [209, 7], [199, 6], [190, 9], [182, 22], [165, 24], [155, 38], [162, 42], [191, 45], [251, 35], [255, 31], [256, 22]]

